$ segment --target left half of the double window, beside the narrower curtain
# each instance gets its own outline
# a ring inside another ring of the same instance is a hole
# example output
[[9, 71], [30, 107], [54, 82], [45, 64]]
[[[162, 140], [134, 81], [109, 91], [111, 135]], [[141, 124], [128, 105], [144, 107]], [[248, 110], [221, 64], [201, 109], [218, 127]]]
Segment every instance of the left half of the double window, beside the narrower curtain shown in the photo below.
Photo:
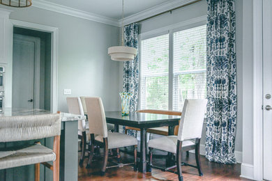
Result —
[[141, 42], [141, 109], [168, 109], [169, 36]]

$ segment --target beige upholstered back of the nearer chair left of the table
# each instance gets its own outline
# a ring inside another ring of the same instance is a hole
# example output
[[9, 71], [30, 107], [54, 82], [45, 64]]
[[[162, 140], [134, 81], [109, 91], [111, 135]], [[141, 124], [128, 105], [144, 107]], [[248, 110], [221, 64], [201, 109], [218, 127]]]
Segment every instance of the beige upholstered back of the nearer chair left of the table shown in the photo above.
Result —
[[107, 138], [106, 116], [101, 98], [85, 97], [85, 102], [90, 134], [98, 134]]

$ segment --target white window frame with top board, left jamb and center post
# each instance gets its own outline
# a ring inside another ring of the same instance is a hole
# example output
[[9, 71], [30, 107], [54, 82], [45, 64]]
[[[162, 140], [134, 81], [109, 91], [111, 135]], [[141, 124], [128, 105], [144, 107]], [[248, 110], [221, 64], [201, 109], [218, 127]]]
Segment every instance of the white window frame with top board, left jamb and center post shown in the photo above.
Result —
[[[186, 20], [184, 22], [179, 22], [177, 24], [172, 24], [169, 26], [165, 26], [163, 28], [160, 29], [155, 29], [152, 31], [148, 31], [145, 33], [140, 33], [139, 37], [138, 37], [138, 42], [139, 42], [139, 50], [141, 50], [141, 42], [142, 40], [146, 40], [149, 38], [154, 38], [157, 36], [163, 36], [165, 34], [169, 34], [169, 80], [168, 80], [168, 110], [173, 110], [173, 81], [174, 81], [174, 68], [173, 68], [173, 63], [174, 63], [174, 59], [173, 59], [173, 36], [174, 33], [177, 31], [183, 31], [186, 29], [192, 29], [195, 28], [197, 26], [202, 26], [206, 24], [206, 19], [207, 16], [201, 16], [201, 17], [196, 17], [193, 19], [189, 19]], [[142, 71], [141, 71], [141, 60], [142, 60], [142, 55], [141, 55], [141, 51], [139, 51], [139, 98], [138, 98], [138, 107], [141, 107], [141, 90], [142, 90]]]

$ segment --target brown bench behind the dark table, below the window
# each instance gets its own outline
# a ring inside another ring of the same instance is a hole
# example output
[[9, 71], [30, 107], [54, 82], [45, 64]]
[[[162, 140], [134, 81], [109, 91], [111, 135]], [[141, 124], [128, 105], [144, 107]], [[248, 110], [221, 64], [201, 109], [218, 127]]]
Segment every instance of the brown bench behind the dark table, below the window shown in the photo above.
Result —
[[[156, 109], [142, 109], [137, 111], [138, 113], [158, 113], [158, 114], [165, 114], [165, 115], [172, 115], [172, 116], [181, 116], [180, 111], [165, 111], [165, 110], [156, 110]], [[139, 128], [137, 127], [125, 127], [125, 133], [127, 134], [128, 129], [140, 131]], [[174, 135], [177, 135], [179, 131], [179, 126], [176, 126], [174, 128]], [[168, 127], [154, 127], [154, 128], [149, 128], [146, 130], [146, 132], [149, 132], [151, 134], [160, 134], [163, 136], [168, 136]]]

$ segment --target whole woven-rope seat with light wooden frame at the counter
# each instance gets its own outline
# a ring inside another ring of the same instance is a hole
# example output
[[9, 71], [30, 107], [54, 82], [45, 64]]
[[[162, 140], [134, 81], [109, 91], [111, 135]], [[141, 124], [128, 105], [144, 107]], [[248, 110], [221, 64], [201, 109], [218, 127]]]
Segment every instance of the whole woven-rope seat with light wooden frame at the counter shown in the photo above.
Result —
[[[0, 169], [35, 164], [35, 180], [40, 180], [40, 163], [53, 171], [53, 180], [59, 180], [59, 148], [61, 115], [0, 117], [0, 142], [27, 141], [54, 136], [53, 150], [40, 143], [0, 151]], [[53, 166], [47, 162], [53, 162]]]

